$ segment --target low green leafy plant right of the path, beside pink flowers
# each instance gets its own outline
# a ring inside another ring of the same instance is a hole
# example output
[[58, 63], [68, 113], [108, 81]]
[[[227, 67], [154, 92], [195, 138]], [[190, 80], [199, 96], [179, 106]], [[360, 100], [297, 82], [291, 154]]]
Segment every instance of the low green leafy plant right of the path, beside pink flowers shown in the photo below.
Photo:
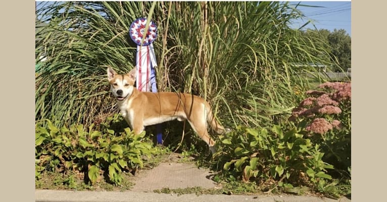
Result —
[[271, 131], [237, 127], [220, 136], [221, 151], [214, 155], [218, 167], [229, 181], [256, 182], [263, 190], [279, 186], [308, 186], [315, 190], [326, 185], [327, 169], [320, 145], [300, 134], [300, 128], [282, 131], [274, 125]]

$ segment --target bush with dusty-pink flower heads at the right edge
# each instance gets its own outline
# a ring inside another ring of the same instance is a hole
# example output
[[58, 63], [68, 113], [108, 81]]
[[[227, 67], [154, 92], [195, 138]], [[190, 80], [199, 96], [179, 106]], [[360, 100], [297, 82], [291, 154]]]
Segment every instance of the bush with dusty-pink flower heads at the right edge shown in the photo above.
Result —
[[305, 128], [312, 141], [322, 143], [323, 160], [335, 167], [336, 174], [350, 177], [351, 83], [326, 82], [306, 94], [289, 120]]

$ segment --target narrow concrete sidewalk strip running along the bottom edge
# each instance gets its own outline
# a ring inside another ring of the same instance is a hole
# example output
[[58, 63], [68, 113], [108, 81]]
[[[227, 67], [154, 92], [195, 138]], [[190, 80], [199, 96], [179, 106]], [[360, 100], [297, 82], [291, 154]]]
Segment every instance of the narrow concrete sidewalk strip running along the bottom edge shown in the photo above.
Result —
[[256, 201], [256, 202], [345, 202], [351, 201], [347, 198], [340, 200], [330, 198], [318, 198], [313, 196], [295, 196], [295, 195], [199, 195], [150, 192], [113, 192], [113, 191], [54, 191], [54, 190], [36, 190], [35, 202], [119, 202], [119, 201], [141, 201], [141, 202], [241, 202], [241, 201]]

